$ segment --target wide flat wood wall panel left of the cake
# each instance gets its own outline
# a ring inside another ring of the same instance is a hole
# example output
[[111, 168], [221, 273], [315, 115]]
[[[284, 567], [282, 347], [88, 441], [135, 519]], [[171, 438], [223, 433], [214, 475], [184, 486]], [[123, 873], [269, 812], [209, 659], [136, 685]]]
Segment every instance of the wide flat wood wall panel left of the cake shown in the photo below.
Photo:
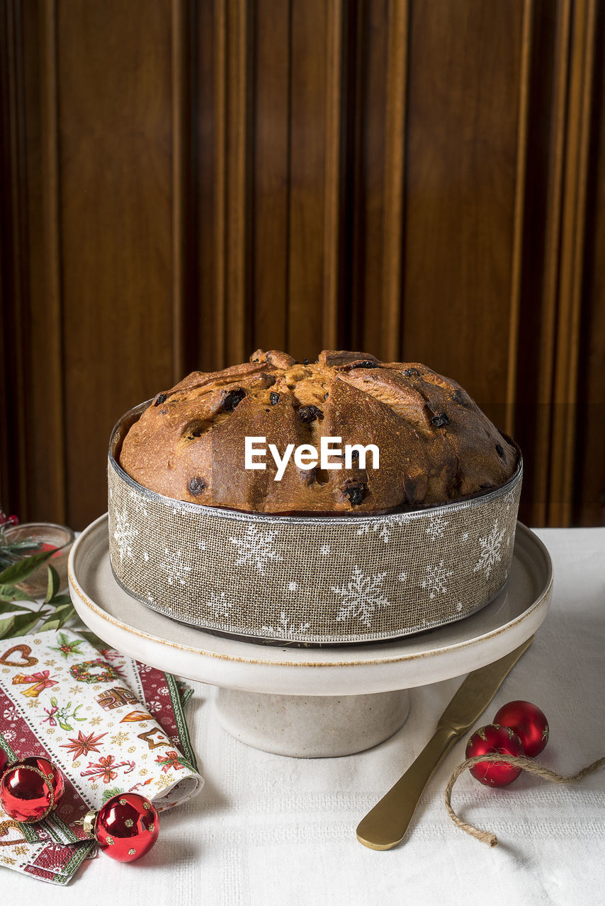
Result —
[[103, 512], [112, 424], [171, 386], [174, 373], [171, 23], [169, 0], [57, 7], [67, 518], [75, 528]]

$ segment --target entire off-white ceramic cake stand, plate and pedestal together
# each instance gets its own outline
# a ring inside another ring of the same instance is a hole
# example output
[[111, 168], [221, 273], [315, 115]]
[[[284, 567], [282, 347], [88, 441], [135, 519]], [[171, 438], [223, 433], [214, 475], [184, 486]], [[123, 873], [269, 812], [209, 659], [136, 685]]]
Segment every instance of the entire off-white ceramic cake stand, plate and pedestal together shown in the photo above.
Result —
[[519, 523], [506, 588], [481, 611], [397, 641], [288, 648], [236, 641], [174, 622], [113, 578], [107, 516], [69, 557], [73, 604], [118, 651], [220, 687], [220, 720], [250, 746], [296, 757], [350, 755], [403, 726], [409, 689], [492, 663], [526, 641], [551, 602], [551, 558]]

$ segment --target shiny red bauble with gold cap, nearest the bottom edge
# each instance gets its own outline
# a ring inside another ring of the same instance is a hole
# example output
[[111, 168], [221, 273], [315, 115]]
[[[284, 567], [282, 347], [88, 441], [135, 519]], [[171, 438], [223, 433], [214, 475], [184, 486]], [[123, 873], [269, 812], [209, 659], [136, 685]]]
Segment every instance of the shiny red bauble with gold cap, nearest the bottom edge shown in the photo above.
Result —
[[93, 833], [103, 853], [117, 862], [134, 862], [158, 839], [160, 817], [138, 793], [120, 793], [99, 809]]

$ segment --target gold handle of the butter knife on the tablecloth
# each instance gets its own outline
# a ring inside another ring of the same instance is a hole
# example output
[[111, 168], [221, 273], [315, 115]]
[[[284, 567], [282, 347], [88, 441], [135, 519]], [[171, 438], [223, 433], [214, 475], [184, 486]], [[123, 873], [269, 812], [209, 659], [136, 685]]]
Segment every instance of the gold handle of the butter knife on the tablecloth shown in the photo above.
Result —
[[405, 836], [424, 786], [458, 738], [452, 728], [437, 727], [412, 766], [357, 826], [357, 840], [370, 849], [391, 849]]

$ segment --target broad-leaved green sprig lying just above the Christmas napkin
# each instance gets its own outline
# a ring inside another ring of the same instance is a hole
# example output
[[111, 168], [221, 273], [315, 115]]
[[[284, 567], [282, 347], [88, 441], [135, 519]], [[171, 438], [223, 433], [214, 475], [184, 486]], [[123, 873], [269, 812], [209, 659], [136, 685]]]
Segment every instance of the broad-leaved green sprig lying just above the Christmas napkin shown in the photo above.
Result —
[[[42, 603], [17, 588], [27, 576], [44, 564], [55, 550], [41, 551], [17, 560], [0, 573], [0, 613], [13, 616], [0, 620], [0, 639], [15, 639], [28, 632], [61, 629], [74, 614], [69, 594], [59, 594], [60, 579], [53, 566], [48, 564], [48, 586]], [[30, 606], [30, 604], [32, 606]]]

